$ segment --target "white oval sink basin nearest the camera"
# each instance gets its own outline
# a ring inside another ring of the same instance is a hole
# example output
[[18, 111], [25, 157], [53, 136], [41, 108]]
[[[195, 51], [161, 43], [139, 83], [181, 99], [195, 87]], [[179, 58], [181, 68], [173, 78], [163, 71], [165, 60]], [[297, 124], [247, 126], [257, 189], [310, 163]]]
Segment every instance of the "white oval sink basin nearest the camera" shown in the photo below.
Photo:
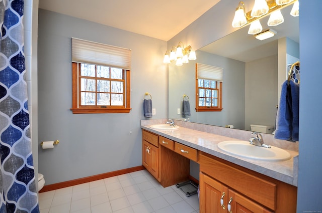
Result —
[[290, 153], [284, 149], [274, 146], [271, 148], [255, 146], [249, 141], [228, 140], [218, 143], [218, 147], [230, 154], [256, 160], [282, 161], [291, 158]]

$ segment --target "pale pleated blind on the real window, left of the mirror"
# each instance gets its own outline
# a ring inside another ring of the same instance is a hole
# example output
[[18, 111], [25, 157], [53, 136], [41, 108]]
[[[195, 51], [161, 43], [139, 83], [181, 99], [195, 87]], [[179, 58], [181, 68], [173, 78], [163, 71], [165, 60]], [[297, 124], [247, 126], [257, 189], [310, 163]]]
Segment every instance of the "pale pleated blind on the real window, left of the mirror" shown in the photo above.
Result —
[[131, 70], [129, 49], [75, 38], [71, 39], [71, 46], [72, 62]]

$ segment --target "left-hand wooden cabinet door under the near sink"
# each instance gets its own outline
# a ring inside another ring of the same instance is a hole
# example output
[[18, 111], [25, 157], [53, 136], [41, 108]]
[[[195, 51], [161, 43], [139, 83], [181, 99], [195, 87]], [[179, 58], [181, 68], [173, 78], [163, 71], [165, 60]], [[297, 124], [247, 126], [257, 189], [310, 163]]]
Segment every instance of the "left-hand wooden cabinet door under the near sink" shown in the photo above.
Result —
[[[226, 213], [228, 188], [211, 177], [200, 173], [200, 213]], [[220, 203], [223, 198], [223, 206]]]

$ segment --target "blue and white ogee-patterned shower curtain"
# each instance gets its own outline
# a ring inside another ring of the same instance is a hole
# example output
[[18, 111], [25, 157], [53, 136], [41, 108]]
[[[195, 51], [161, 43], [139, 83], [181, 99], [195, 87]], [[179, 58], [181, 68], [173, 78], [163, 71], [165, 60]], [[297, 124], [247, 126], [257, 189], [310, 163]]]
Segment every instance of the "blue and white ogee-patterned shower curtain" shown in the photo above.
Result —
[[0, 212], [39, 213], [24, 56], [24, 0], [0, 0]]

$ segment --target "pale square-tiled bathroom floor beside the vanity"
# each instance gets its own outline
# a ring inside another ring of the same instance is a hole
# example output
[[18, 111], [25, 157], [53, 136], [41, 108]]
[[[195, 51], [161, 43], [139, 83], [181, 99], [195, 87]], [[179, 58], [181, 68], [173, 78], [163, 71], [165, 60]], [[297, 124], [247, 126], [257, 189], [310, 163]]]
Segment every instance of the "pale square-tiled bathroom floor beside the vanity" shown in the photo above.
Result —
[[199, 199], [141, 170], [39, 193], [39, 207], [40, 213], [199, 213]]

